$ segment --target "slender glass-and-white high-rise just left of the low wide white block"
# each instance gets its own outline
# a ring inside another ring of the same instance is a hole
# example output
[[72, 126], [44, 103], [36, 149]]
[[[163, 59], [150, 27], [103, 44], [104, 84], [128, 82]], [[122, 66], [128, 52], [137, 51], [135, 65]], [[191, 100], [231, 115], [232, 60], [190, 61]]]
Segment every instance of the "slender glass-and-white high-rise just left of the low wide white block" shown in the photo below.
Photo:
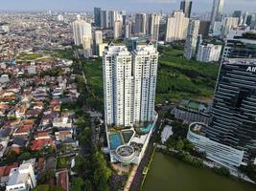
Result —
[[185, 52], [184, 56], [187, 59], [191, 59], [196, 55], [197, 45], [198, 45], [198, 32], [199, 32], [200, 21], [199, 20], [190, 20], [187, 38], [185, 43]]

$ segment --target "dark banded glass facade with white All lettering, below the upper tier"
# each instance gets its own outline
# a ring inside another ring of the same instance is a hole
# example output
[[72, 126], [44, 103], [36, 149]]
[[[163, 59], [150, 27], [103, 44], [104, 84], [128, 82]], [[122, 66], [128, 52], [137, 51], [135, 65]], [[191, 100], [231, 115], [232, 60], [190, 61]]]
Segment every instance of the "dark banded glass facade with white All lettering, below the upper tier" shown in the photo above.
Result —
[[256, 157], [256, 60], [223, 59], [206, 137]]

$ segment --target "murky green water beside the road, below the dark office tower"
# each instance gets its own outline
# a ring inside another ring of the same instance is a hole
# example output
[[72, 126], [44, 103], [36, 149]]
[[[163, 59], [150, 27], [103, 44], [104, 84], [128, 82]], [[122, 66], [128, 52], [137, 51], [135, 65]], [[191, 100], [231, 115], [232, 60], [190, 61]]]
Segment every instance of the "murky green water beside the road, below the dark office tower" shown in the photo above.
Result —
[[256, 185], [230, 180], [156, 152], [143, 191], [256, 191]]

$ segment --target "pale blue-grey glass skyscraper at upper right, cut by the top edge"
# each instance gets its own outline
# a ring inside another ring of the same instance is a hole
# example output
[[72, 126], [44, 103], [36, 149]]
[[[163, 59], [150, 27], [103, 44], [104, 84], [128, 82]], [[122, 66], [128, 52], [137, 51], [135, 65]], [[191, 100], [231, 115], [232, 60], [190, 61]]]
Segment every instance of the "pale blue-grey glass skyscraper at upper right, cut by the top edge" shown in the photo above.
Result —
[[221, 22], [224, 0], [214, 0], [211, 15], [211, 30], [214, 28], [215, 22]]

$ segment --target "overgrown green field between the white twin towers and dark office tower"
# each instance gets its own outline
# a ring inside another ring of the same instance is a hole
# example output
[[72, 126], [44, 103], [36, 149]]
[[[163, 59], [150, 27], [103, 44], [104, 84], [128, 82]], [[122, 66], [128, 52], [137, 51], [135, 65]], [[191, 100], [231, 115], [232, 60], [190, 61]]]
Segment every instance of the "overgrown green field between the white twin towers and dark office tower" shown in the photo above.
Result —
[[219, 71], [218, 63], [183, 58], [183, 48], [159, 47], [156, 103], [182, 98], [211, 98]]

